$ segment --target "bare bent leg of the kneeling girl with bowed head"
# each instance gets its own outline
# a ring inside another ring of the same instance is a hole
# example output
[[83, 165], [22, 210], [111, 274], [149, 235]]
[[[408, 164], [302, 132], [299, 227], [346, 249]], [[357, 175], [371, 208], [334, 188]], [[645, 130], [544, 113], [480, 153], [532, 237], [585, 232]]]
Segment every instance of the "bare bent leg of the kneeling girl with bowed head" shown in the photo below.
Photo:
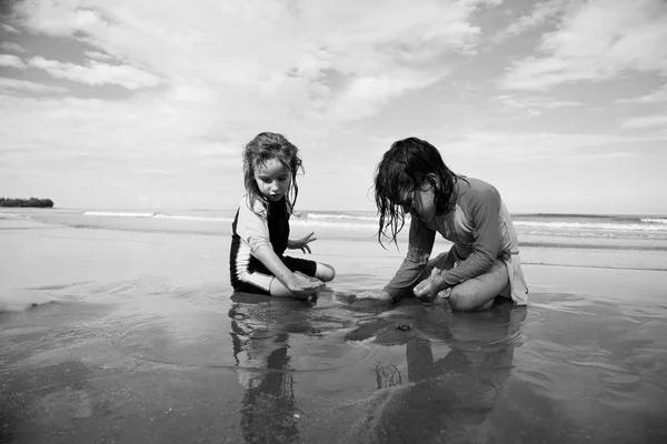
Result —
[[454, 286], [449, 292], [451, 310], [459, 312], [475, 312], [488, 310], [494, 304], [494, 299], [509, 285], [507, 266], [496, 260], [489, 271], [477, 278]]

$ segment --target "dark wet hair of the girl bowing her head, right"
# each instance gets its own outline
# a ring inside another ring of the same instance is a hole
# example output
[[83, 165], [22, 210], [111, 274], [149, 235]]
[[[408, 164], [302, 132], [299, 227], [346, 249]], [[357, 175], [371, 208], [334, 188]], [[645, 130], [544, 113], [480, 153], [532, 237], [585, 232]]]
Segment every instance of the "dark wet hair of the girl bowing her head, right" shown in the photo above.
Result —
[[382, 155], [375, 173], [375, 201], [379, 215], [378, 242], [384, 239], [398, 245], [396, 236], [406, 223], [401, 203], [412, 199], [425, 183], [435, 191], [436, 214], [454, 210], [451, 194], [456, 183], [465, 178], [455, 174], [436, 147], [425, 140], [408, 138], [394, 142]]

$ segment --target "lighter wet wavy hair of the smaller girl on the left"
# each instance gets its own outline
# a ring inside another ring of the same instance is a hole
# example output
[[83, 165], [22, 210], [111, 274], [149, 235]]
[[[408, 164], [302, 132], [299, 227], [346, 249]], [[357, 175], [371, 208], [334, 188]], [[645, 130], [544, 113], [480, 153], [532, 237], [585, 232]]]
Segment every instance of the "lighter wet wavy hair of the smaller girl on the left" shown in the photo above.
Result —
[[287, 202], [289, 213], [295, 214], [293, 209], [299, 195], [297, 172], [299, 169], [303, 171], [303, 165], [301, 158], [299, 158], [299, 149], [290, 143], [285, 135], [275, 132], [257, 134], [243, 149], [243, 181], [250, 208], [255, 209], [257, 200], [260, 200], [268, 208], [269, 200], [259, 191], [255, 181], [255, 172], [258, 167], [273, 159], [282, 163], [291, 175]]

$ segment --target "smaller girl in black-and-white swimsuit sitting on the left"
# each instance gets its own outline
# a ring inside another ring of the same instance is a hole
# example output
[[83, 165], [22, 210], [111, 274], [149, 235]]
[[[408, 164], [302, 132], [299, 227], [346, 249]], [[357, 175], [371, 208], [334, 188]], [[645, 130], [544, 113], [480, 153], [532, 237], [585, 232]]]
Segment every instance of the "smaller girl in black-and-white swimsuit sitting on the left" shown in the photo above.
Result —
[[243, 150], [246, 195], [232, 223], [229, 274], [236, 291], [308, 297], [331, 281], [330, 265], [286, 256], [287, 249], [310, 253], [315, 233], [289, 239], [302, 170], [299, 149], [282, 134], [257, 134]]

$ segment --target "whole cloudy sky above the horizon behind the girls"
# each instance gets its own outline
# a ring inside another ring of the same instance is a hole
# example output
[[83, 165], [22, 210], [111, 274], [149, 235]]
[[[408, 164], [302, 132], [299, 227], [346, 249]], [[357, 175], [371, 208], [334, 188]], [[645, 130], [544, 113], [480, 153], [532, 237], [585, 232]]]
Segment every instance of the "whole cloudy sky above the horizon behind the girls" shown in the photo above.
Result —
[[235, 209], [262, 131], [297, 210], [375, 210], [414, 135], [510, 212], [667, 214], [667, 2], [0, 2], [0, 196]]

